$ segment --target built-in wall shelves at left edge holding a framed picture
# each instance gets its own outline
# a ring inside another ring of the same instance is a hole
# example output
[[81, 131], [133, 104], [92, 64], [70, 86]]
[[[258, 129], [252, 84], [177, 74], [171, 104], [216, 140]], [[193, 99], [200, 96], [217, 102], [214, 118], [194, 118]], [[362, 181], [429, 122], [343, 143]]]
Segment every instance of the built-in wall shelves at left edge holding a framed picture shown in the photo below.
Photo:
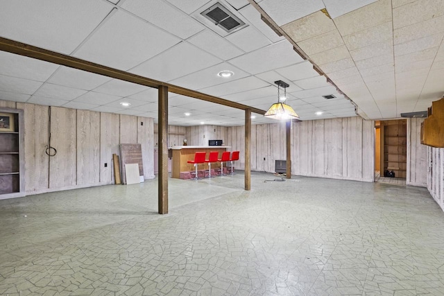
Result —
[[25, 195], [23, 115], [23, 110], [0, 108], [0, 199]]

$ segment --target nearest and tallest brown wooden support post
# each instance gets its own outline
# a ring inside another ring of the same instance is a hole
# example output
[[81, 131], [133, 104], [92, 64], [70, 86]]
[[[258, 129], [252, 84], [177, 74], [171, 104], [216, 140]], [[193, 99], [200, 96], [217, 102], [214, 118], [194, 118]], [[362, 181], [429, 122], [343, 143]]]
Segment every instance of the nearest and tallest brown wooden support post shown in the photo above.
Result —
[[168, 214], [168, 87], [159, 86], [159, 214]]

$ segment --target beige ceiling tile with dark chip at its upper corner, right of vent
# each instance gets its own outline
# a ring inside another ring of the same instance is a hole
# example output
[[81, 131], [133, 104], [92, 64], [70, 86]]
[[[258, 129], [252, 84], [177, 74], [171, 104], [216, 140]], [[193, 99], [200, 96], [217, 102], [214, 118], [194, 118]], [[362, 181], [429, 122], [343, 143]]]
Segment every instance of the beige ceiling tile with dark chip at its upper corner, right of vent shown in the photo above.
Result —
[[330, 17], [327, 17], [322, 11], [317, 11], [307, 17], [291, 21], [291, 23], [282, 26], [282, 29], [294, 42], [300, 42], [336, 30], [336, 27]]

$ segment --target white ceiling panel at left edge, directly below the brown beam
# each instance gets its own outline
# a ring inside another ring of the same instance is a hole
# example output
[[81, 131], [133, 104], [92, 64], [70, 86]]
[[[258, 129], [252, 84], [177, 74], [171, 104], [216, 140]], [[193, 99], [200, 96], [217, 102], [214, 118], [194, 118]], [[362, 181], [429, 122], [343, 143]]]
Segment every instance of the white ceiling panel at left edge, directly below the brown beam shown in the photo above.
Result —
[[27, 58], [0, 51], [0, 74], [36, 81], [46, 81], [59, 67], [58, 64]]

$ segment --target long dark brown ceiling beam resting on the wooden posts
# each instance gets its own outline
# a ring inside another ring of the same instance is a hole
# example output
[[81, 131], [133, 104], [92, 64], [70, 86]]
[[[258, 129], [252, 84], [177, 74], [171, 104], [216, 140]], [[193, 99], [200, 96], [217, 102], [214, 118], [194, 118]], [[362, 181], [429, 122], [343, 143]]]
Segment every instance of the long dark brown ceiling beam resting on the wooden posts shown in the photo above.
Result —
[[110, 78], [115, 78], [119, 80], [124, 80], [128, 82], [133, 82], [137, 85], [144, 85], [146, 87], [158, 88], [160, 86], [168, 87], [169, 92], [174, 94], [181, 94], [182, 96], [190, 96], [191, 98], [197, 98], [202, 101], [207, 101], [211, 103], [216, 103], [219, 105], [224, 105], [228, 107], [237, 108], [240, 110], [250, 109], [251, 112], [257, 114], [265, 114], [264, 110], [257, 109], [255, 107], [250, 107], [237, 102], [225, 100], [223, 98], [218, 98], [216, 96], [211, 96], [209, 94], [203, 94], [201, 92], [196, 92], [192, 89], [187, 89], [185, 87], [179, 87], [176, 85], [170, 85], [167, 82], [162, 82], [154, 80], [151, 78], [146, 78], [144, 76], [139, 76], [133, 73], [128, 73], [119, 69], [114, 69], [110, 67], [103, 66], [101, 64], [96, 64], [94, 62], [88, 62], [86, 60], [81, 60], [79, 58], [74, 58], [69, 55], [64, 55], [62, 53], [56, 53], [55, 51], [49, 51], [47, 49], [42, 49], [37, 46], [32, 46], [22, 42], [17, 42], [14, 40], [9, 40], [0, 37], [0, 51], [8, 51], [9, 53], [15, 53], [17, 55], [23, 55], [28, 58], [35, 58], [37, 60], [44, 60], [46, 62], [52, 62], [54, 64], [60, 64], [62, 66], [79, 69], [87, 71], [90, 73], [96, 73], [99, 75], [107, 76]]

